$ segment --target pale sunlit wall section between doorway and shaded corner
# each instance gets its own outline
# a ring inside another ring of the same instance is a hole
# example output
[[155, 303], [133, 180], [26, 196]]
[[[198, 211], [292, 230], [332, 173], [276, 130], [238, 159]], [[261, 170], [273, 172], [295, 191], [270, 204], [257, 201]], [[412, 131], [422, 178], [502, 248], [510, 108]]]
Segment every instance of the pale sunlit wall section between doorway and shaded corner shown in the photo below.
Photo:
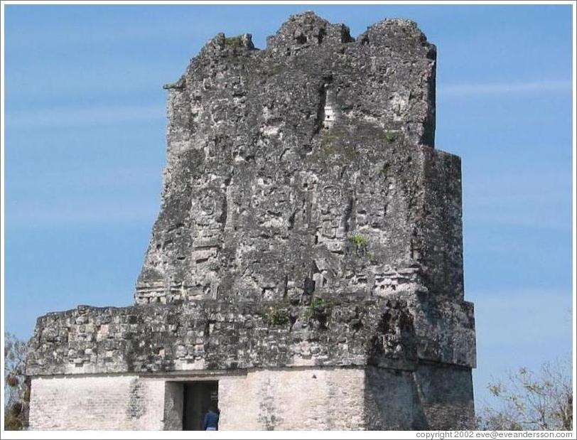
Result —
[[364, 429], [364, 393], [364, 368], [254, 370], [219, 382], [221, 429]]

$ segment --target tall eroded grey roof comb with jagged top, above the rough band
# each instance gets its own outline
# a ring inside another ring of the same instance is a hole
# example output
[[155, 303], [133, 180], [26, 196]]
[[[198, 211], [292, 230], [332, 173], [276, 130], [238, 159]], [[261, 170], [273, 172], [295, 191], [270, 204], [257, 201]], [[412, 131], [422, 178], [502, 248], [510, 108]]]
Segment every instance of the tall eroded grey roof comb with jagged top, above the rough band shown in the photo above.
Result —
[[163, 205], [136, 302], [370, 294], [421, 267], [399, 287], [461, 299], [460, 163], [432, 149], [434, 66], [405, 20], [357, 41], [313, 14], [265, 50], [212, 39], [168, 89]]

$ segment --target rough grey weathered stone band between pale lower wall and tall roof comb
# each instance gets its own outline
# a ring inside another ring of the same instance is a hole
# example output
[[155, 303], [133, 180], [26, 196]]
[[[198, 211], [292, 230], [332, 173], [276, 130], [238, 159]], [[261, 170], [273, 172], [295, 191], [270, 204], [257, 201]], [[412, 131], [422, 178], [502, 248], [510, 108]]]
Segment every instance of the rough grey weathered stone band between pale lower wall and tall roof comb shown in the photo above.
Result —
[[27, 373], [120, 374], [367, 363], [382, 367], [400, 363], [406, 369], [416, 358], [475, 367], [470, 303], [437, 301], [423, 293], [374, 299], [342, 295], [338, 301], [320, 304], [323, 307], [198, 301], [122, 308], [80, 306], [49, 313], [38, 318]]

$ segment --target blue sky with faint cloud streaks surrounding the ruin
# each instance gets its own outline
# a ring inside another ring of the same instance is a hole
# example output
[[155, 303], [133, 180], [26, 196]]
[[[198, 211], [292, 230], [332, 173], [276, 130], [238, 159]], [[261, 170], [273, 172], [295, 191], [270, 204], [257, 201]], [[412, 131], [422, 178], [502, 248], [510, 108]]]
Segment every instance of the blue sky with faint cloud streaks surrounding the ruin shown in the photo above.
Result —
[[571, 6], [6, 6], [6, 329], [131, 304], [160, 203], [161, 85], [216, 33], [264, 48], [311, 9], [353, 36], [411, 18], [438, 47], [478, 402], [492, 376], [571, 353]]

